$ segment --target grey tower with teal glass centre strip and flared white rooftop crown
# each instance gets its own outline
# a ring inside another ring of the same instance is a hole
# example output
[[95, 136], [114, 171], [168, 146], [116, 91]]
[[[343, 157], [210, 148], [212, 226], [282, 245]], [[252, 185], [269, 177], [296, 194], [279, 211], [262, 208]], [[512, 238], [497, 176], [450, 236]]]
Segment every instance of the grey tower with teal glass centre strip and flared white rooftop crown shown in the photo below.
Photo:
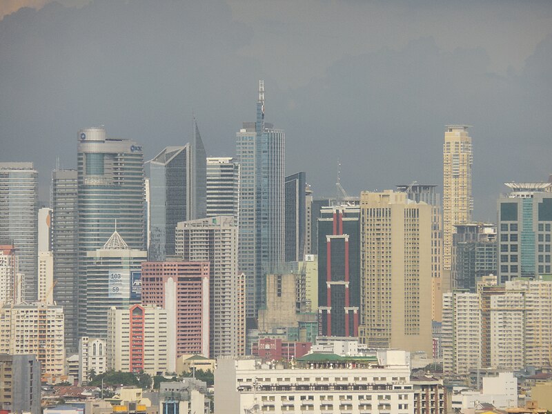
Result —
[[550, 183], [506, 183], [498, 205], [498, 281], [552, 273], [552, 193]]

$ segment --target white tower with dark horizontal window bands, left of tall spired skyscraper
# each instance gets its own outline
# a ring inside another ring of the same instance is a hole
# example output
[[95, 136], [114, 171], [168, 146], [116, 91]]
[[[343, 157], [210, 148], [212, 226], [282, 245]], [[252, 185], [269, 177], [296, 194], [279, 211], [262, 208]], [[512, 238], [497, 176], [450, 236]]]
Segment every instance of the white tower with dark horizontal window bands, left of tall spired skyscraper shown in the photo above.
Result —
[[207, 159], [207, 217], [231, 215], [239, 220], [239, 164], [230, 157]]

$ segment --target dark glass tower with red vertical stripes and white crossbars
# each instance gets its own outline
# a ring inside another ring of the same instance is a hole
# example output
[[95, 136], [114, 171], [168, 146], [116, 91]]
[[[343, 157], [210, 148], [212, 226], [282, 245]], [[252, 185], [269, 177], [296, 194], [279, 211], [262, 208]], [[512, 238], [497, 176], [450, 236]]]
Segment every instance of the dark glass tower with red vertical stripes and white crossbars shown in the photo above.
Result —
[[320, 210], [318, 313], [324, 336], [358, 336], [360, 306], [360, 209]]

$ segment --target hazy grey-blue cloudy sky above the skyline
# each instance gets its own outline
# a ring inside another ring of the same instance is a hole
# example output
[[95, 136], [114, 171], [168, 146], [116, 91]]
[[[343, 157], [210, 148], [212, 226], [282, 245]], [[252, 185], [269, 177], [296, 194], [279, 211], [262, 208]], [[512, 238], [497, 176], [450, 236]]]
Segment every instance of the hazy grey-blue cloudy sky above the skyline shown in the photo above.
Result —
[[47, 201], [77, 131], [151, 159], [197, 118], [208, 156], [255, 120], [286, 131], [315, 197], [395, 184], [442, 193], [446, 124], [473, 140], [474, 219], [507, 181], [552, 173], [550, 1], [0, 1], [0, 161], [33, 161]]

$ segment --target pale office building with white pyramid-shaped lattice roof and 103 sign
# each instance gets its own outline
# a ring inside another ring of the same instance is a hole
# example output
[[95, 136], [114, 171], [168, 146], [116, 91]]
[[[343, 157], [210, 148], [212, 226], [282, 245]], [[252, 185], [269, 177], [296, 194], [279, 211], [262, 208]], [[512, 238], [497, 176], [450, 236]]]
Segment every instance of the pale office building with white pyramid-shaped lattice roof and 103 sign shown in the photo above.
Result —
[[141, 262], [146, 250], [132, 249], [115, 230], [103, 247], [86, 254], [86, 332], [106, 338], [111, 306], [128, 307], [141, 301]]

